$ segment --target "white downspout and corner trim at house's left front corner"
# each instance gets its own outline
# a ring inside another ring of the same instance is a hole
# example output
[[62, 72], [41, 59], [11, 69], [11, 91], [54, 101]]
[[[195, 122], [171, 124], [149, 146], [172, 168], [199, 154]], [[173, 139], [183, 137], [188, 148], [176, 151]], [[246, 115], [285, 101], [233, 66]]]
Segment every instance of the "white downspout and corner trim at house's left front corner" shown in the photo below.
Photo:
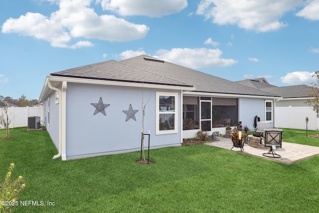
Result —
[[52, 86], [52, 80], [48, 81], [48, 87], [59, 93], [59, 148], [58, 154], [53, 156], [53, 159], [56, 159], [61, 156], [62, 161], [66, 160], [66, 133], [65, 133], [65, 124], [66, 124], [66, 81], [62, 82], [62, 90]]

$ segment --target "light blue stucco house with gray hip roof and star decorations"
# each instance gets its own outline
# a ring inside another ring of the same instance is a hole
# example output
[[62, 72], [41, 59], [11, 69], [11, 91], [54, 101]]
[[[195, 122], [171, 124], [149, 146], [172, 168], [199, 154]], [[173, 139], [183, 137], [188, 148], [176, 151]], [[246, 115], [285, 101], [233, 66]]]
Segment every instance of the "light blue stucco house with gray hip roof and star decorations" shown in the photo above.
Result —
[[148, 55], [51, 73], [39, 101], [44, 125], [62, 160], [138, 151], [144, 132], [151, 148], [181, 146], [198, 130], [224, 133], [254, 117], [274, 125], [279, 95]]

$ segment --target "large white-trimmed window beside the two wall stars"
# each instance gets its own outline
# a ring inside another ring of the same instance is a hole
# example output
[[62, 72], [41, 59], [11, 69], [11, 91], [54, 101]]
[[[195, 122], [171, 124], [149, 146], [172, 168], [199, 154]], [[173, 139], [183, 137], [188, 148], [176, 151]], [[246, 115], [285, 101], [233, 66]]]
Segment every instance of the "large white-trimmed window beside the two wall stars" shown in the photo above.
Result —
[[178, 93], [156, 92], [156, 134], [178, 132]]

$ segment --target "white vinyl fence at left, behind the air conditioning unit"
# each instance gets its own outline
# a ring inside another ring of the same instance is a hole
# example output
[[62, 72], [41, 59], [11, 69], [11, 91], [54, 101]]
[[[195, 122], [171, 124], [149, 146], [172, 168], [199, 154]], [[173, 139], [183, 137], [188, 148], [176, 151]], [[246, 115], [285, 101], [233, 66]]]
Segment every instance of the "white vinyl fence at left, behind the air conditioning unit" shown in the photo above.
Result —
[[[3, 113], [3, 109], [0, 108], [0, 115]], [[28, 126], [28, 117], [39, 116], [41, 125], [43, 124], [42, 106], [35, 107], [9, 107], [8, 117], [11, 120], [9, 128], [14, 127], [26, 127]], [[0, 128], [3, 126], [0, 124]]]

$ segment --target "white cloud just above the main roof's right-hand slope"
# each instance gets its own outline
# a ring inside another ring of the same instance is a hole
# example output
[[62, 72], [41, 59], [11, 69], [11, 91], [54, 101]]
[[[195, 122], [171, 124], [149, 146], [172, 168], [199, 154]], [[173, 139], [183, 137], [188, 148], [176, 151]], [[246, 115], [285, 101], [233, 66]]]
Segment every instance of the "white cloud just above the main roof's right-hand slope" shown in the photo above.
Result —
[[193, 69], [232, 66], [238, 63], [234, 59], [221, 58], [222, 53], [220, 49], [173, 48], [171, 50], [160, 49], [155, 57]]

